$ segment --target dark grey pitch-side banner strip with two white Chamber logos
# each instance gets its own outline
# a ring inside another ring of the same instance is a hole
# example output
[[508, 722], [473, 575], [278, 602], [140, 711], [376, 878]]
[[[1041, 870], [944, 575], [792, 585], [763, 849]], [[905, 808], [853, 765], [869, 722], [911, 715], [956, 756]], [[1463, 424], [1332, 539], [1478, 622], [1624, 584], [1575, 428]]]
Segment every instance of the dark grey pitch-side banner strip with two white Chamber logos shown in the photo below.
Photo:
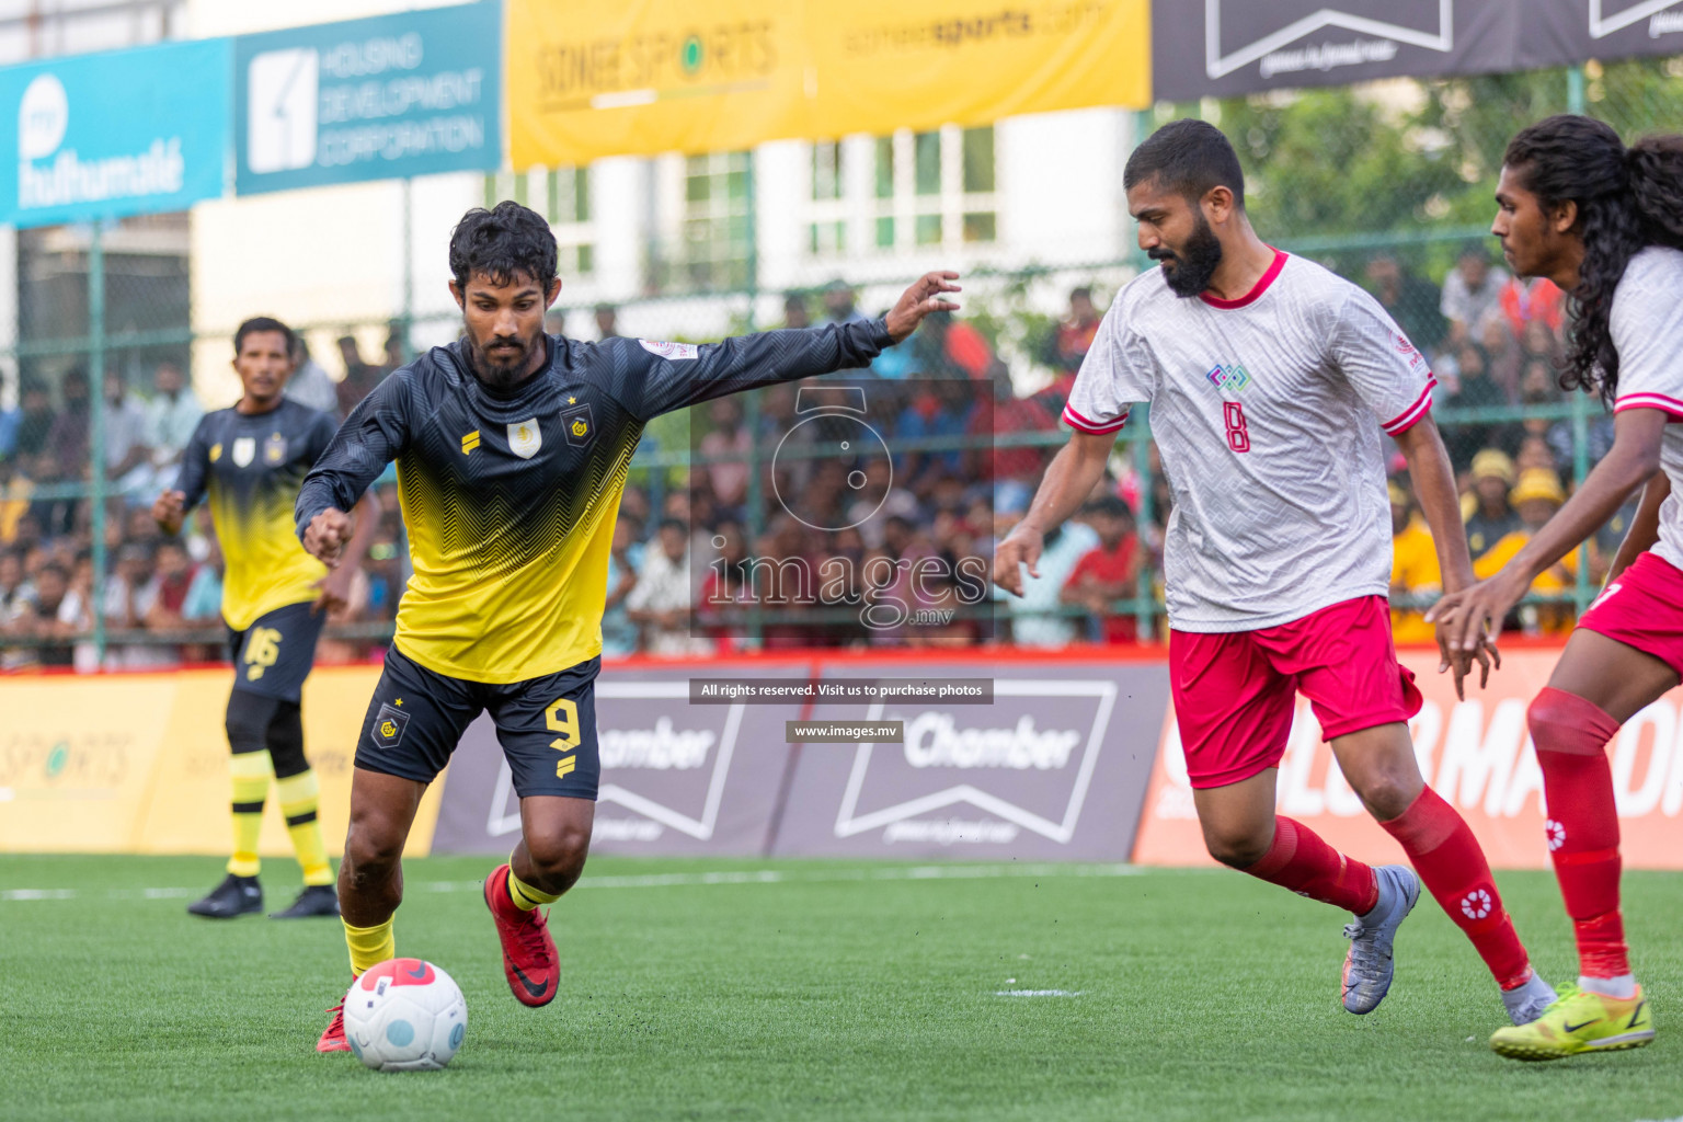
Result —
[[[591, 851], [1126, 861], [1166, 710], [1161, 663], [609, 666]], [[481, 717], [451, 759], [433, 853], [507, 853], [518, 836]]]

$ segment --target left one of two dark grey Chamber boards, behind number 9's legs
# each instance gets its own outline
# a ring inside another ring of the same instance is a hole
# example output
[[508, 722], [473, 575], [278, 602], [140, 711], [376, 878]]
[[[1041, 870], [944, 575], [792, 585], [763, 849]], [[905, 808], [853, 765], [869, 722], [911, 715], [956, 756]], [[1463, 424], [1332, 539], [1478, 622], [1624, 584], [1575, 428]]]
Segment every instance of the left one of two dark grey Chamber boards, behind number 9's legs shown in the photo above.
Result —
[[[806, 678], [804, 668], [783, 673]], [[803, 703], [692, 705], [692, 676], [673, 668], [597, 678], [603, 781], [592, 853], [766, 853], [789, 759], [784, 722], [799, 717]], [[518, 836], [520, 799], [491, 720], [481, 715], [451, 759], [433, 853], [507, 853]]]

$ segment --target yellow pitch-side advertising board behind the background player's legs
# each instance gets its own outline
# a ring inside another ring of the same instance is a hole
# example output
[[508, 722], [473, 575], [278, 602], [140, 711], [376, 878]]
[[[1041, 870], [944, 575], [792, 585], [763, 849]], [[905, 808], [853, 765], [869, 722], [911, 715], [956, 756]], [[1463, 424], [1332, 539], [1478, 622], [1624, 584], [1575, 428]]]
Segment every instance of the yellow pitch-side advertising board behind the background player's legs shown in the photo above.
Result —
[[[321, 779], [321, 831], [338, 856], [350, 774], [379, 666], [305, 683], [305, 752]], [[0, 853], [227, 853], [226, 669], [0, 678]], [[411, 856], [429, 851], [443, 777], [421, 801]], [[289, 858], [274, 789], [259, 853]]]

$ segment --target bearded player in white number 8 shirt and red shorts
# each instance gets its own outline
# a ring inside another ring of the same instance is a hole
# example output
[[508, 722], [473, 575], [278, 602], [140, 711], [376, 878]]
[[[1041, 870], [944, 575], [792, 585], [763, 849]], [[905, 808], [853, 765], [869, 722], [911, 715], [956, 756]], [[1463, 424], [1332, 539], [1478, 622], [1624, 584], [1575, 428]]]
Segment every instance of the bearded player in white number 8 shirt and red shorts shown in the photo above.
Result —
[[[1128, 209], [1160, 269], [1104, 316], [1064, 410], [1074, 429], [1028, 515], [1000, 543], [995, 580], [1020, 592], [1042, 535], [1104, 476], [1136, 402], [1173, 491], [1165, 543], [1170, 683], [1210, 855], [1351, 912], [1343, 1003], [1370, 1013], [1392, 979], [1392, 937], [1420, 881], [1495, 974], [1513, 1023], [1555, 994], [1530, 966], [1473, 831], [1420, 779], [1385, 594], [1390, 505], [1383, 431], [1409, 463], [1444, 587], [1473, 584], [1454, 476], [1432, 422], [1434, 378], [1378, 303], [1264, 244], [1232, 145], [1173, 121], [1128, 160]], [[1456, 690], [1483, 643], [1451, 659]], [[1274, 814], [1296, 693], [1345, 779], [1419, 870], [1372, 868]]]

